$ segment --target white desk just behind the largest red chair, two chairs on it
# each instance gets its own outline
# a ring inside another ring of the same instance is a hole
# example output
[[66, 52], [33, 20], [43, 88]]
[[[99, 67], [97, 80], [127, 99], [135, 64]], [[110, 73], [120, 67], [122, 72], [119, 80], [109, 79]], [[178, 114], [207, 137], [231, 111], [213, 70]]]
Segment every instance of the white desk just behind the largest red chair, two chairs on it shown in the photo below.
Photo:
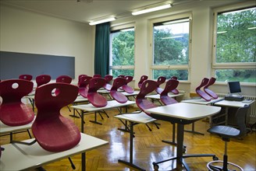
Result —
[[[133, 104], [135, 104], [135, 102], [129, 101], [129, 100], [126, 103], [119, 103], [116, 100], [111, 100], [111, 101], [108, 101], [107, 106], [104, 106], [104, 107], [96, 107], [96, 106], [93, 106], [91, 103], [76, 105], [76, 106], [71, 106], [71, 107], [76, 109], [76, 110], [80, 110], [81, 132], [84, 133], [84, 115], [85, 114], [94, 113], [94, 120], [90, 120], [90, 121], [94, 124], [101, 124], [97, 121], [97, 112], [99, 113], [102, 110], [111, 110], [111, 109], [120, 108], [120, 107], [123, 107], [123, 106], [127, 107], [127, 106], [133, 105]], [[119, 111], [121, 111], [121, 110], [119, 110]]]

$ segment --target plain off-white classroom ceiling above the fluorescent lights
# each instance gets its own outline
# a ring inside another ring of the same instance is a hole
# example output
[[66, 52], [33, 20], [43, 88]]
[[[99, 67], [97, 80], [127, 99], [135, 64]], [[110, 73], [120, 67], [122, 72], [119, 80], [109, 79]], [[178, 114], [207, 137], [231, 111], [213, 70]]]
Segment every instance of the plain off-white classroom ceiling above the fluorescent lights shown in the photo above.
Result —
[[158, 3], [181, 3], [194, 0], [0, 0], [2, 5], [12, 5], [21, 9], [89, 23], [94, 19], [108, 16], [131, 16], [134, 9]]

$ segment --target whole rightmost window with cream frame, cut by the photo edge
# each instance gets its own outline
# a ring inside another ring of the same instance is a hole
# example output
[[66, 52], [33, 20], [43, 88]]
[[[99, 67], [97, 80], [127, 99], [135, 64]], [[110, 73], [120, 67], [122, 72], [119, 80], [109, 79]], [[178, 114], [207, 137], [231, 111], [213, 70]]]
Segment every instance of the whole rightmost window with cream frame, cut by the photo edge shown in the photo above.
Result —
[[216, 9], [213, 75], [219, 82], [256, 82], [256, 8]]

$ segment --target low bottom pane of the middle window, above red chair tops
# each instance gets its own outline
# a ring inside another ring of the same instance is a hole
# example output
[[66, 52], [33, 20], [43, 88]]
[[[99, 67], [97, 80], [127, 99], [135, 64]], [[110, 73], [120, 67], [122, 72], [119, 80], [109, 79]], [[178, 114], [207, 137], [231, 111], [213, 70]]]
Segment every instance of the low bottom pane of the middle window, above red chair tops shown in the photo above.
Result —
[[179, 80], [188, 79], [187, 70], [153, 70], [153, 79], [158, 79], [159, 76], [164, 76], [166, 79], [171, 79], [172, 76], [176, 76]]

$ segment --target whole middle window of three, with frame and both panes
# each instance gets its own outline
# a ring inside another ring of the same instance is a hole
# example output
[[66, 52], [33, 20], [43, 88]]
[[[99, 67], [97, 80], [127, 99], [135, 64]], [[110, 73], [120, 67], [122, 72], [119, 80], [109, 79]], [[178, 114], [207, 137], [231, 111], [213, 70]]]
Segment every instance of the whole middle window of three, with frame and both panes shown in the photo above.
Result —
[[189, 80], [190, 16], [152, 22], [152, 79]]

